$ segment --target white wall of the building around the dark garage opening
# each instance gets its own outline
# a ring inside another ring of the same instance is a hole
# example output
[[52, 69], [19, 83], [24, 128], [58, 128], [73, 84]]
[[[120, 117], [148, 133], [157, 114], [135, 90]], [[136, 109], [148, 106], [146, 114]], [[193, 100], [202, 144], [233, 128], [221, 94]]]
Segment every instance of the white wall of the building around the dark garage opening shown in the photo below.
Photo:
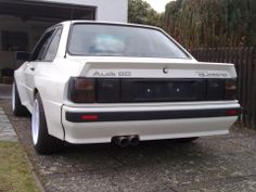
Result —
[[128, 0], [29, 0], [41, 2], [55, 2], [63, 4], [77, 4], [97, 7], [97, 20], [127, 22]]

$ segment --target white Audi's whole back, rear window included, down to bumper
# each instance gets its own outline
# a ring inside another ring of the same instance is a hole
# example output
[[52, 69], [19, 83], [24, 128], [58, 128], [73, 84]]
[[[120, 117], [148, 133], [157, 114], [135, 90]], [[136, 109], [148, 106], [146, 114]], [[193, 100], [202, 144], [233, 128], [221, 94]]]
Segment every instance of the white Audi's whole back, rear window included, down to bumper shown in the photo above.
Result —
[[233, 64], [196, 62], [157, 28], [77, 23], [71, 33], [67, 59], [84, 67], [66, 85], [67, 142], [225, 135], [236, 120]]

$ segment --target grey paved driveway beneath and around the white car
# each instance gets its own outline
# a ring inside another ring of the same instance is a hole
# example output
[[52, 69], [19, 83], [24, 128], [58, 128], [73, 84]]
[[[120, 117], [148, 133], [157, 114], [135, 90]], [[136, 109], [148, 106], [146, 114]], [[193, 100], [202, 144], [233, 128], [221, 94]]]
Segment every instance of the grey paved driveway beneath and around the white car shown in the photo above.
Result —
[[62, 154], [39, 156], [30, 141], [30, 119], [11, 114], [0, 101], [46, 191], [197, 192], [256, 191], [256, 132], [233, 128], [228, 136], [190, 144], [143, 142], [67, 145]]

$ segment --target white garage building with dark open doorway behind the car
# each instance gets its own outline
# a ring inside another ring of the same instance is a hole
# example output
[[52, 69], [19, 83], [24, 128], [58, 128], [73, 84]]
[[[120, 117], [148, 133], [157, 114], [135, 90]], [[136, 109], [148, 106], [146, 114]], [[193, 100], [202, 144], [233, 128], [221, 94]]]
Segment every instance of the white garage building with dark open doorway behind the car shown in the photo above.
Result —
[[2, 69], [15, 69], [16, 51], [31, 51], [41, 34], [59, 22], [127, 22], [128, 0], [1, 0], [0, 82]]

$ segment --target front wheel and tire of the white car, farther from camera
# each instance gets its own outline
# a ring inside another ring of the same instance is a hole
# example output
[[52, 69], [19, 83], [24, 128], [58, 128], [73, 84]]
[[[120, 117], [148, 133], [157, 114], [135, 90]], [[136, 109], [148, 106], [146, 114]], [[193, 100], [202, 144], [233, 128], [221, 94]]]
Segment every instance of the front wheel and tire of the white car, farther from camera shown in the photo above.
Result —
[[12, 85], [12, 112], [15, 116], [28, 116], [29, 112], [22, 105], [15, 81]]

